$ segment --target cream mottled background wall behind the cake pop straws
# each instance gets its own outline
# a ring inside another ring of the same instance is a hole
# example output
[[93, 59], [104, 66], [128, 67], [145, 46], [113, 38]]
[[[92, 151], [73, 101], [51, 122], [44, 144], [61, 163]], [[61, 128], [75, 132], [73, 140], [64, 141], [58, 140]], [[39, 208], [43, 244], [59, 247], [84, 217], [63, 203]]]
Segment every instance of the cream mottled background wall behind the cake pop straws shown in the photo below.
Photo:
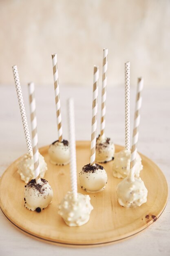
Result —
[[0, 84], [53, 83], [51, 53], [62, 84], [91, 85], [108, 47], [108, 83], [170, 86], [170, 0], [0, 0]]

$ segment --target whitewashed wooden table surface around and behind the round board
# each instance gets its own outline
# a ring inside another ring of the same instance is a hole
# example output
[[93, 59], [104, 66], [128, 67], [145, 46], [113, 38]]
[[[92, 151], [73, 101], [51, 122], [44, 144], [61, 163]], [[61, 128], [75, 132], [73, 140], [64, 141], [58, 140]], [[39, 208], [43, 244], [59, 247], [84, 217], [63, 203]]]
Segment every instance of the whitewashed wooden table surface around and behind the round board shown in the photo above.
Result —
[[[41, 147], [50, 144], [57, 137], [53, 85], [37, 86], [35, 90], [39, 147]], [[29, 118], [26, 85], [22, 86], [22, 91]], [[90, 140], [92, 88], [65, 86], [60, 88], [60, 93], [64, 138], [68, 138], [66, 99], [74, 97], [76, 139]], [[115, 144], [124, 145], [124, 88], [109, 87], [107, 93], [106, 135], [111, 137]], [[144, 89], [138, 144], [139, 152], [152, 159], [161, 168], [168, 184], [170, 183], [169, 95], [169, 89]], [[14, 85], [0, 86], [0, 104], [0, 175], [2, 175], [9, 164], [26, 152], [26, 143]], [[135, 90], [132, 89], [131, 120], [134, 104]], [[86, 249], [59, 247], [34, 240], [16, 229], [0, 211], [0, 255], [2, 256], [113, 254], [170, 255], [170, 202], [160, 218], [137, 236], [114, 245]]]

